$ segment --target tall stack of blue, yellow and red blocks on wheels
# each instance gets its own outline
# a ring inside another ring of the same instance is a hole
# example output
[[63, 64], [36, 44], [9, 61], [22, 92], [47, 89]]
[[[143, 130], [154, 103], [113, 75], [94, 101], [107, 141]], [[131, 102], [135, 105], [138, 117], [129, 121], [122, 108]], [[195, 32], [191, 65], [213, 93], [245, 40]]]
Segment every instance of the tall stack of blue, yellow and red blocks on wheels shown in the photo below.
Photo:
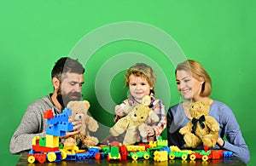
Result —
[[[68, 117], [71, 114], [72, 112], [68, 108], [58, 115], [54, 115], [52, 110], [44, 112], [44, 118], [47, 119], [49, 127], [46, 129], [46, 136], [44, 138], [35, 136], [32, 139], [32, 150], [27, 158], [29, 163], [34, 163], [36, 160], [39, 163], [45, 163], [46, 161], [60, 162], [67, 157], [67, 152], [60, 147], [59, 136], [64, 136], [67, 131], [73, 130], [72, 123], [68, 123]], [[73, 158], [68, 156], [68, 159], [72, 160]]]

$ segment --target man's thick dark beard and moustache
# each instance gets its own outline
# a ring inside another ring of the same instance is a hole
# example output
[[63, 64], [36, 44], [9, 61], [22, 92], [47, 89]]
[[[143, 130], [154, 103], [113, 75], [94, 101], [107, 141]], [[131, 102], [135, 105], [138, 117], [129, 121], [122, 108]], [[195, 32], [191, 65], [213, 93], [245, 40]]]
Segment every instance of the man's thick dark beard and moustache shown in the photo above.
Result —
[[83, 95], [79, 92], [70, 92], [67, 94], [62, 94], [61, 89], [58, 89], [57, 91], [57, 100], [61, 104], [62, 108], [65, 108], [67, 106], [67, 103], [71, 100], [81, 100]]

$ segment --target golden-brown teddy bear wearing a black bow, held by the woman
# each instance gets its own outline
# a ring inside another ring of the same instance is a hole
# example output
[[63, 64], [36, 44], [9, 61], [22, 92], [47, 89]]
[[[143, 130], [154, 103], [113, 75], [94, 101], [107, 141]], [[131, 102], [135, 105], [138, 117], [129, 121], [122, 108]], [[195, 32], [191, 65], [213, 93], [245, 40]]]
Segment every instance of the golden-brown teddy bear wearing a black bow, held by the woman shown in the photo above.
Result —
[[216, 145], [219, 124], [214, 117], [208, 115], [210, 106], [208, 101], [190, 104], [189, 113], [193, 118], [179, 130], [188, 147], [195, 148], [201, 144], [208, 147]]

